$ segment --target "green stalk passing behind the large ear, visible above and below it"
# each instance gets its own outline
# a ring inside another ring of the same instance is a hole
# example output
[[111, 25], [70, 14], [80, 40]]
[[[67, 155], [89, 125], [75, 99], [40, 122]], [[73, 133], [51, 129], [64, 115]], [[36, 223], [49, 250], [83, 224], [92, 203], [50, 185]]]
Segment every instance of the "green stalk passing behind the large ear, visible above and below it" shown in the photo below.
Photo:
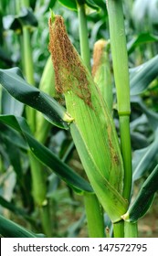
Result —
[[[77, 0], [77, 3], [79, 16], [80, 54], [81, 58], [84, 61], [84, 64], [90, 70], [90, 47], [85, 5], [83, 5], [79, 0]], [[88, 220], [89, 236], [91, 238], [105, 237], [103, 213], [98, 198], [92, 194], [85, 194], [84, 201], [86, 208], [86, 216]]]

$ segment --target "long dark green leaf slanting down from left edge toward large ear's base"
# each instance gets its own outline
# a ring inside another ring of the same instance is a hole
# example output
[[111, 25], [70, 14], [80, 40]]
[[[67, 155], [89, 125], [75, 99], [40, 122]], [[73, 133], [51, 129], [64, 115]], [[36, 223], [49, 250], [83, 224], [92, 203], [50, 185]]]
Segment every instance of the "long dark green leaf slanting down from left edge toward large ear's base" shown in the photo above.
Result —
[[41, 161], [52, 169], [61, 179], [77, 192], [92, 192], [90, 184], [81, 176], [77, 175], [68, 165], [64, 164], [56, 155], [54, 155], [46, 146], [37, 142], [30, 133], [26, 120], [22, 117], [13, 115], [0, 115], [0, 122], [11, 126], [19, 133], [23, 133], [31, 152]]

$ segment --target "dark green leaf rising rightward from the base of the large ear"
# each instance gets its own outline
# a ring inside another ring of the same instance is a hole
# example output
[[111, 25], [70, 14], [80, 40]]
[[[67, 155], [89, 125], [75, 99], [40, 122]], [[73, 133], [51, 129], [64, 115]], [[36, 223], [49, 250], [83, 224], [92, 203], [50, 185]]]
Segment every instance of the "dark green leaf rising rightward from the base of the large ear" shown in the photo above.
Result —
[[153, 172], [145, 180], [140, 192], [134, 202], [128, 209], [122, 219], [130, 222], [136, 222], [147, 212], [153, 203], [154, 193], [158, 190], [158, 165], [155, 166]]

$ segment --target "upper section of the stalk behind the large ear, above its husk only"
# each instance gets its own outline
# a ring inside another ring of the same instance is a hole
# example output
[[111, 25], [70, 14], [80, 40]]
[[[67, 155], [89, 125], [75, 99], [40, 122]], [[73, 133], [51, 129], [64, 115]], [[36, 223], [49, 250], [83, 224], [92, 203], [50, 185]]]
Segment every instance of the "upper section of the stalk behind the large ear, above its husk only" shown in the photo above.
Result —
[[90, 70], [90, 47], [88, 38], [87, 18], [85, 13], [85, 5], [80, 2], [82, 1], [77, 0], [79, 16], [80, 55], [84, 61], [84, 64]]

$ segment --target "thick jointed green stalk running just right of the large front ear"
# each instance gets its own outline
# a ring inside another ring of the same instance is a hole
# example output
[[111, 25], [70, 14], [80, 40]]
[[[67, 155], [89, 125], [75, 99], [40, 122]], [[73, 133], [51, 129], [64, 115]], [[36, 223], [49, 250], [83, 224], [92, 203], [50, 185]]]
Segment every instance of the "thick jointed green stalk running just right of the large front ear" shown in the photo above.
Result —
[[[130, 201], [132, 189], [130, 79], [121, 0], [107, 0], [107, 9], [109, 14], [111, 54], [120, 119], [121, 155], [124, 165], [123, 197]], [[123, 222], [116, 223], [114, 226], [114, 229], [116, 229], [116, 231], [114, 231], [114, 235], [118, 235], [118, 229], [120, 229], [120, 236], [124, 236], [122, 233]], [[130, 230], [132, 232], [132, 229], [133, 226], [129, 226], [129, 232]]]

